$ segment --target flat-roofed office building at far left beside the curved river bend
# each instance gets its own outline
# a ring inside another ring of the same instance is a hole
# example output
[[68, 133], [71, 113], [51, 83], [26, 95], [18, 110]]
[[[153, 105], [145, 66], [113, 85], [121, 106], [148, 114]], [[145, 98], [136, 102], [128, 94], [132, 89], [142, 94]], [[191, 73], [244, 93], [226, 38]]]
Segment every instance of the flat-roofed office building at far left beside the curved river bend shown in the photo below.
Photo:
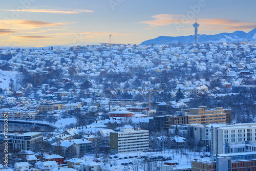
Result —
[[[0, 133], [0, 141], [4, 142], [5, 134]], [[32, 144], [42, 141], [42, 133], [10, 133], [8, 134], [9, 149], [30, 150]]]

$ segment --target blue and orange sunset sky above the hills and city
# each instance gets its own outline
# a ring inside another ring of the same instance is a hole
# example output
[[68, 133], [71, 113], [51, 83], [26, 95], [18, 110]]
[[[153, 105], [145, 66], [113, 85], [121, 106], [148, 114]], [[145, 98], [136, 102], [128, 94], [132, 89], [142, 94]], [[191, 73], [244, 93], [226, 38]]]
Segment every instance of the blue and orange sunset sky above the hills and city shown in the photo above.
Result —
[[0, 46], [46, 47], [99, 42], [140, 44], [158, 36], [218, 34], [256, 28], [256, 1], [1, 1]]

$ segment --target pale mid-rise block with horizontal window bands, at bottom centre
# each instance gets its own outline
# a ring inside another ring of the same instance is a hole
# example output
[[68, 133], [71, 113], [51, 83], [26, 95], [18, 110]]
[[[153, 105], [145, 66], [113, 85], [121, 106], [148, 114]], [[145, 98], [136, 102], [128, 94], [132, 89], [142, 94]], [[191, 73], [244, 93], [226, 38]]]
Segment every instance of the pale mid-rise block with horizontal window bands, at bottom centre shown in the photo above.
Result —
[[123, 126], [120, 132], [110, 133], [110, 150], [112, 154], [148, 150], [148, 130]]

